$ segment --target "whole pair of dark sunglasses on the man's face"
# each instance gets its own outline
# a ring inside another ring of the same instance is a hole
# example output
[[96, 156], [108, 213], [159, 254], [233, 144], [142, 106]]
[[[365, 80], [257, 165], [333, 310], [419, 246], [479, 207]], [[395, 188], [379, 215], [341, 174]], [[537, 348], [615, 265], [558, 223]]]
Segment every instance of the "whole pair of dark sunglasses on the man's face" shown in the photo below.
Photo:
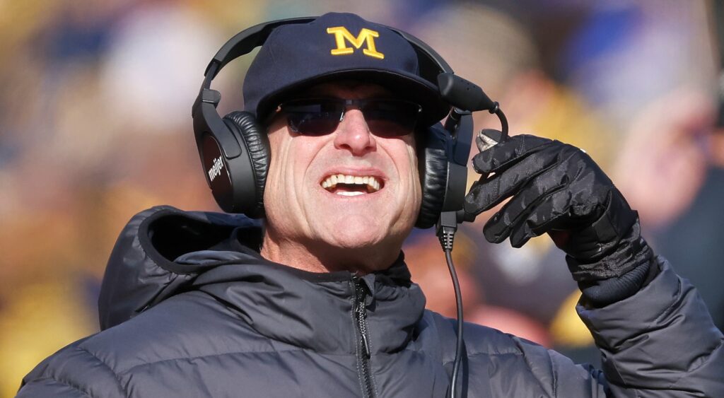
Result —
[[415, 131], [422, 107], [394, 98], [303, 98], [279, 106], [292, 132], [320, 136], [337, 130], [348, 109], [359, 109], [369, 131], [377, 137], [402, 137]]

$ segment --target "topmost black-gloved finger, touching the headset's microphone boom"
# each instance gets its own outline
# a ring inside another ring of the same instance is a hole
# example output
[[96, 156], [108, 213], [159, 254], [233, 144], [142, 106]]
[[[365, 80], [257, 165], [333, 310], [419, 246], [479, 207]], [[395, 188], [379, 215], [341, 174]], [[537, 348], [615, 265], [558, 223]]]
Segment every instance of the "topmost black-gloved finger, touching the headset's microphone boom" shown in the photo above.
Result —
[[481, 174], [500, 172], [515, 163], [516, 160], [529, 156], [555, 142], [535, 135], [514, 135], [473, 156], [473, 169]]

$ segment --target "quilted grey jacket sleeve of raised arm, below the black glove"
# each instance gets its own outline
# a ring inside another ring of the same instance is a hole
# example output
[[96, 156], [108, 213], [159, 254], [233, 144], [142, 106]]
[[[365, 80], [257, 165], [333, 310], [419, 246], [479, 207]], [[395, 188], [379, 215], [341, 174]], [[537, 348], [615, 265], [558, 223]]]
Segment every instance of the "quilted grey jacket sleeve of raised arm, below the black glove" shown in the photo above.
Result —
[[609, 394], [724, 397], [724, 336], [689, 281], [657, 261], [661, 273], [636, 295], [577, 307], [601, 350]]

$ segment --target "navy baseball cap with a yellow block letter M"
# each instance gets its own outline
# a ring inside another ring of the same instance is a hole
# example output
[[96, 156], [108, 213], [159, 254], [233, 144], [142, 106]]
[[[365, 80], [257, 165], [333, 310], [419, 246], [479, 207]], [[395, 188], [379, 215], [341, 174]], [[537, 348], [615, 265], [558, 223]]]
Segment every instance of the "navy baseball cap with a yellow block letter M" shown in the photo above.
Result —
[[426, 125], [450, 111], [437, 82], [421, 77], [411, 43], [383, 25], [334, 12], [282, 25], [269, 35], [244, 78], [245, 111], [261, 120], [286, 96], [342, 79], [376, 83], [420, 104]]

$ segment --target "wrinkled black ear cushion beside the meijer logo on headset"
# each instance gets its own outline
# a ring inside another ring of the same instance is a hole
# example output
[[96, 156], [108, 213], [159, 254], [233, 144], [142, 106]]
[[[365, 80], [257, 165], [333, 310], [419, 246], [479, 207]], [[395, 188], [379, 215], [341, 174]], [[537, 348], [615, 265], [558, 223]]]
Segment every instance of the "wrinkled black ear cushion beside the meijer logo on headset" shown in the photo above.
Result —
[[[240, 139], [242, 152], [244, 149], [251, 160], [251, 173], [253, 174], [253, 187], [243, 187], [244, 190], [253, 190], [253, 208], [244, 209], [247, 216], [258, 218], [264, 216], [264, 187], [266, 175], [269, 173], [269, 137], [264, 127], [256, 120], [253, 114], [244, 111], [233, 111], [224, 117], [224, 123]], [[242, 154], [243, 156], [243, 154]], [[244, 180], [234, 178], [232, 181]]]

